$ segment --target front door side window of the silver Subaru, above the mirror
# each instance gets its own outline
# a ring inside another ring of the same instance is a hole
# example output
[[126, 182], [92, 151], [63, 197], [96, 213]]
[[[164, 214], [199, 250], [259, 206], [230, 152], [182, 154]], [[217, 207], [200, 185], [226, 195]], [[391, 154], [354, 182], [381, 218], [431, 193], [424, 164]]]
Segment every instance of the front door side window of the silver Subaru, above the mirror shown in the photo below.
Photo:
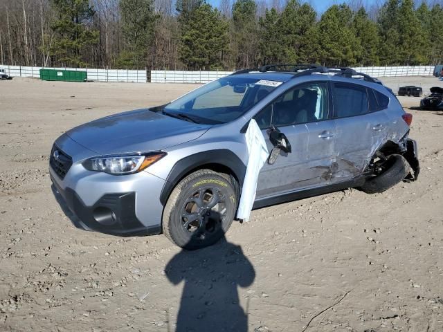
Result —
[[316, 122], [327, 118], [327, 84], [296, 86], [278, 97], [255, 116], [261, 129]]

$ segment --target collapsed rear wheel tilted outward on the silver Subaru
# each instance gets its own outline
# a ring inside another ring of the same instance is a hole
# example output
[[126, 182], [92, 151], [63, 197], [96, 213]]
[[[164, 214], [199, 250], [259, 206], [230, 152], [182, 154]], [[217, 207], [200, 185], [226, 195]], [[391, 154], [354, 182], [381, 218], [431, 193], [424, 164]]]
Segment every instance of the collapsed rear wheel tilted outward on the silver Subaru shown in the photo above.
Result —
[[410, 172], [408, 161], [399, 154], [391, 154], [381, 164], [383, 171], [373, 178], [366, 180], [361, 190], [367, 194], [384, 192], [390, 187], [397, 185], [406, 178]]

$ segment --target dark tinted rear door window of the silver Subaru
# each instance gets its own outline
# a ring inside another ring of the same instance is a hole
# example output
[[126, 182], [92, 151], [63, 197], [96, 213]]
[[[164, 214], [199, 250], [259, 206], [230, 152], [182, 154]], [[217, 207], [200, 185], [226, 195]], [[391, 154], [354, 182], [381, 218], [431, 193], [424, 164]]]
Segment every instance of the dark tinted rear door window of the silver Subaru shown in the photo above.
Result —
[[353, 84], [334, 84], [334, 110], [337, 118], [368, 113], [366, 88]]

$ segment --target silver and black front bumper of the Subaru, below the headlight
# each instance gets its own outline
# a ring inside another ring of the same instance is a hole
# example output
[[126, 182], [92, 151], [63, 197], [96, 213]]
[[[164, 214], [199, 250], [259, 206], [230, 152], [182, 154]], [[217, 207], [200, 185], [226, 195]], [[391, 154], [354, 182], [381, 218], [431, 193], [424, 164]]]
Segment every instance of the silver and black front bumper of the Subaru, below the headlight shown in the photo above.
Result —
[[66, 135], [55, 146], [60, 154], [56, 165], [50, 158], [53, 193], [75, 226], [120, 236], [161, 232], [159, 197], [165, 180], [146, 171], [123, 176], [92, 172], [82, 160], [96, 156], [93, 151]]

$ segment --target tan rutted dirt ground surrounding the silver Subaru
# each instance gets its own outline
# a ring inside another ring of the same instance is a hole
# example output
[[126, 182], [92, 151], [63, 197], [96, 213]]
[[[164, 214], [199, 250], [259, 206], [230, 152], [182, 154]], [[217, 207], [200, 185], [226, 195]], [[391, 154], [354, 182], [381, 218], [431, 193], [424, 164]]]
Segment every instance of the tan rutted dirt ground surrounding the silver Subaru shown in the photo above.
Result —
[[0, 81], [0, 331], [443, 331], [442, 112], [410, 111], [419, 181], [255, 210], [212, 248], [74, 228], [51, 192], [55, 138], [195, 87]]

